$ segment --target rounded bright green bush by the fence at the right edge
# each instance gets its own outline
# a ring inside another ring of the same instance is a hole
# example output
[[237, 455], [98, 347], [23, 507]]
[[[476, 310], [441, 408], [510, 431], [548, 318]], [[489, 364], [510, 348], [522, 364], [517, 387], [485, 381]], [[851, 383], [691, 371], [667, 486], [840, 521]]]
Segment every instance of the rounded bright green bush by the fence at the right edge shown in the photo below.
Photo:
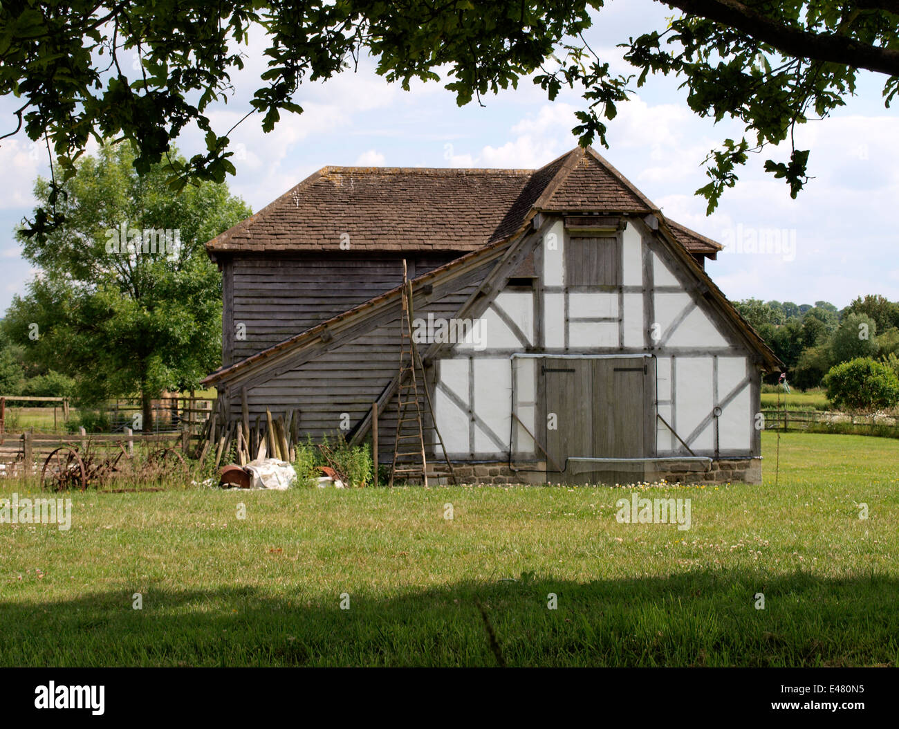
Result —
[[899, 378], [893, 369], [868, 357], [832, 367], [824, 387], [827, 399], [840, 410], [870, 412], [899, 403]]

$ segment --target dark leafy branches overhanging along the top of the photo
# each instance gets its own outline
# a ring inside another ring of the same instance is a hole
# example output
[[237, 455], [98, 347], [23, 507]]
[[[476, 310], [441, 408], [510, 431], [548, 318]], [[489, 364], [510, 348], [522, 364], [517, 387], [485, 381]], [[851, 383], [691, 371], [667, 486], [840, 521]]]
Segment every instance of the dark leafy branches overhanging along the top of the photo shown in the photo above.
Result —
[[[792, 147], [793, 129], [808, 114], [823, 117], [842, 105], [859, 69], [886, 77], [887, 105], [896, 93], [899, 0], [663, 4], [682, 14], [667, 28], [621, 39], [637, 71], [621, 76], [583, 40], [583, 31], [601, 22], [601, 0], [13, 0], [0, 5], [0, 93], [22, 99], [9, 133], [23, 127], [29, 138], [46, 139], [63, 178], [93, 135], [134, 142], [138, 172], [171, 162], [178, 187], [221, 182], [235, 172], [231, 130], [212, 129], [207, 111], [231, 91], [230, 74], [242, 67], [254, 25], [267, 34], [269, 69], [247, 111], [263, 115], [267, 131], [282, 111], [302, 111], [295, 100], [302, 82], [334, 76], [366, 52], [379, 74], [405, 88], [415, 78], [444, 74], [459, 104], [525, 76], [550, 99], [564, 86], [578, 89], [584, 104], [574, 133], [584, 145], [594, 139], [606, 145], [603, 120], [648, 74], [673, 73], [683, 79], [693, 111], [733, 117], [745, 128], [743, 138], [725, 139], [708, 156], [709, 182], [698, 192], [709, 212], [734, 186], [749, 153], [785, 140], [788, 156], [765, 168], [796, 197], [808, 179], [808, 150]], [[136, 70], [129, 63], [135, 52]], [[191, 121], [206, 132], [207, 151], [168, 160], [174, 138]], [[59, 222], [58, 195], [50, 192], [32, 235]]]

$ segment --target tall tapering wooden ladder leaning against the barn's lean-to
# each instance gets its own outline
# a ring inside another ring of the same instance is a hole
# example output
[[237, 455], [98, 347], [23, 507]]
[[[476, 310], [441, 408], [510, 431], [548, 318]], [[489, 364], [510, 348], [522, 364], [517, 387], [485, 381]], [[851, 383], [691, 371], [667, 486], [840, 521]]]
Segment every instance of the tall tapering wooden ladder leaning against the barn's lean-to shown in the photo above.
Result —
[[[424, 378], [424, 367], [418, 348], [412, 338], [412, 283], [408, 280], [405, 259], [403, 260], [403, 314], [400, 317], [400, 352], [399, 352], [399, 378], [396, 389], [396, 439], [394, 440], [393, 465], [390, 467], [390, 483], [400, 476], [403, 480], [421, 478], [423, 485], [428, 485], [428, 477], [449, 477], [455, 484], [456, 474], [449, 462], [447, 450], [443, 445], [441, 431], [437, 429], [437, 421], [434, 419], [434, 408], [431, 402], [431, 393], [428, 391], [427, 381]], [[419, 391], [419, 380], [424, 397]], [[430, 416], [430, 424], [422, 422], [423, 410]], [[424, 447], [424, 432], [433, 431], [437, 434], [437, 442], [440, 443], [443, 460], [446, 462], [445, 472], [432, 471], [428, 473], [428, 457]]]

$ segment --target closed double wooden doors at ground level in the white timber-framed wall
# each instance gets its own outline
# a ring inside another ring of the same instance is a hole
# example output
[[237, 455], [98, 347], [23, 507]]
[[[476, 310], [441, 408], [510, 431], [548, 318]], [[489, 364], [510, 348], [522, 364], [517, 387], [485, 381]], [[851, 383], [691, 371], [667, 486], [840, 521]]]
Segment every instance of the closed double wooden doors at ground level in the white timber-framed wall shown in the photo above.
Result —
[[[547, 480], [565, 484], [642, 481], [639, 463], [616, 467], [568, 459], [645, 458], [650, 454], [647, 439], [654, 427], [650, 424], [654, 417], [652, 360], [547, 357], [541, 371], [547, 452], [555, 461], [555, 466], [547, 465]], [[555, 422], [551, 415], [555, 415]], [[555, 430], [551, 427], [554, 424]]]

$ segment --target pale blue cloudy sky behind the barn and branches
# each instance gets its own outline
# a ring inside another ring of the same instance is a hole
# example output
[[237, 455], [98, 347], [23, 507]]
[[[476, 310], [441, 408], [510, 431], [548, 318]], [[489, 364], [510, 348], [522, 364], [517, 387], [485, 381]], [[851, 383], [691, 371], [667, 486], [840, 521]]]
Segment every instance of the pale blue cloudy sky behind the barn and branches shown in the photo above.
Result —
[[[612, 70], [629, 73], [616, 44], [662, 30], [671, 10], [652, 0], [612, 0], [585, 34]], [[224, 133], [246, 111], [265, 68], [260, 43], [246, 49], [245, 69], [233, 76], [235, 93], [209, 114]], [[441, 83], [414, 84], [409, 92], [387, 84], [370, 59], [358, 70], [300, 88], [304, 113], [284, 113], [269, 134], [252, 116], [231, 135], [236, 176], [230, 190], [254, 211], [327, 165], [396, 167], [536, 168], [575, 147], [574, 92], [548, 102], [539, 86], [522, 79], [517, 90], [459, 108]], [[608, 149], [595, 146], [668, 218], [725, 244], [707, 271], [732, 300], [761, 298], [797, 304], [827, 300], [844, 307], [853, 298], [881, 294], [899, 300], [899, 117], [886, 109], [886, 79], [864, 73], [857, 96], [825, 120], [797, 128], [797, 148], [811, 150], [814, 176], [789, 196], [788, 186], [762, 171], [764, 160], [788, 158], [788, 148], [752, 155], [740, 180], [706, 216], [694, 194], [708, 182], [702, 162], [725, 138], [743, 136], [731, 120], [714, 124], [687, 106], [676, 77], [652, 76], [608, 122]], [[444, 79], [443, 83], [447, 83]], [[635, 84], [636, 86], [636, 84]], [[0, 99], [0, 121], [14, 128], [13, 99]], [[190, 156], [205, 151], [196, 129], [177, 145]], [[0, 316], [34, 275], [13, 231], [31, 217], [38, 175], [49, 176], [46, 150], [22, 133], [0, 142]], [[752, 240], [767, 245], [752, 245]], [[759, 252], [759, 247], [765, 249]]]

